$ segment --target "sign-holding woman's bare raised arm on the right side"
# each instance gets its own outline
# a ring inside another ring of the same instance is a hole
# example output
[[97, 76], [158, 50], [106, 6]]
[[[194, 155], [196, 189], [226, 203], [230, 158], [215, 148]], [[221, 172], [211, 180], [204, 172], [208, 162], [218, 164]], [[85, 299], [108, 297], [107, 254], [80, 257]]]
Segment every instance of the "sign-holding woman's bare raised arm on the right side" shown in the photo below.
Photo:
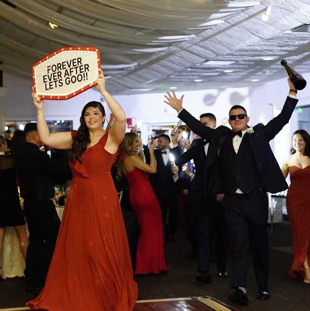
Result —
[[108, 144], [118, 147], [125, 136], [126, 115], [121, 105], [106, 91], [105, 79], [102, 70], [97, 78], [97, 89], [103, 95], [106, 104], [109, 106], [114, 116], [114, 121], [109, 129]]

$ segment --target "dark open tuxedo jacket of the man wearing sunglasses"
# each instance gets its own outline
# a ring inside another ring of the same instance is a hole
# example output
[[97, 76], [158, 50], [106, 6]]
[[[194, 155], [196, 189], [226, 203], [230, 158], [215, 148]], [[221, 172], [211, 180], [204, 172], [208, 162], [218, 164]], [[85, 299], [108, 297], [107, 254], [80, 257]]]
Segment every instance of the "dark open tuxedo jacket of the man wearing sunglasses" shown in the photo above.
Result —
[[[283, 191], [288, 188], [288, 185], [273, 155], [269, 141], [289, 122], [297, 103], [297, 99], [288, 96], [278, 116], [274, 117], [266, 125], [258, 123], [253, 127], [254, 133], [245, 134], [250, 136], [249, 146], [255, 158], [260, 184], [270, 193]], [[180, 111], [178, 117], [184, 121], [193, 132], [209, 142], [208, 156], [205, 161], [205, 171], [207, 171], [214, 165], [218, 150], [227, 136], [230, 135], [231, 129], [227, 126], [219, 126], [216, 129], [206, 127], [185, 109]]]

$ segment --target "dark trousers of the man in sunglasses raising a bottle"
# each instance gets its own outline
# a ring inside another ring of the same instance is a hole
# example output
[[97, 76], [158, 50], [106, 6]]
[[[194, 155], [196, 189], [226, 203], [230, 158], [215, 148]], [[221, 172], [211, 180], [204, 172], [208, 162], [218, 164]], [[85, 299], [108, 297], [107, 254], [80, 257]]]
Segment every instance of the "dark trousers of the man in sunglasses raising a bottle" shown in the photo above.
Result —
[[247, 286], [249, 237], [253, 243], [253, 266], [258, 288], [266, 289], [269, 274], [268, 198], [256, 190], [247, 194], [225, 194], [222, 204], [233, 244], [230, 288]]

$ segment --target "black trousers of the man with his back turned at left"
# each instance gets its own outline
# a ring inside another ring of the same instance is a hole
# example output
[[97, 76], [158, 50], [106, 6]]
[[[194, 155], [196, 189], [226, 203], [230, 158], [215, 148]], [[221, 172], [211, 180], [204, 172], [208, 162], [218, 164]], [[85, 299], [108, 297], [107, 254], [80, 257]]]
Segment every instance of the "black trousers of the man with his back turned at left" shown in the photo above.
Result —
[[60, 220], [52, 200], [24, 200], [29, 245], [25, 277], [30, 287], [44, 286], [54, 252]]

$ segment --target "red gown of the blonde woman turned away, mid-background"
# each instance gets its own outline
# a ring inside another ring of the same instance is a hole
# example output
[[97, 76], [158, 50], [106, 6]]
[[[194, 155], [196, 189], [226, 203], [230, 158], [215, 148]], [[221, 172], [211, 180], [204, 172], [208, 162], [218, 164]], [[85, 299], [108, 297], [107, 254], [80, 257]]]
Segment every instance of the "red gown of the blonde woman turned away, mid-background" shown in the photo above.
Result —
[[161, 211], [149, 183], [149, 174], [134, 168], [125, 174], [130, 204], [140, 225], [135, 274], [160, 273], [168, 270], [163, 250]]

